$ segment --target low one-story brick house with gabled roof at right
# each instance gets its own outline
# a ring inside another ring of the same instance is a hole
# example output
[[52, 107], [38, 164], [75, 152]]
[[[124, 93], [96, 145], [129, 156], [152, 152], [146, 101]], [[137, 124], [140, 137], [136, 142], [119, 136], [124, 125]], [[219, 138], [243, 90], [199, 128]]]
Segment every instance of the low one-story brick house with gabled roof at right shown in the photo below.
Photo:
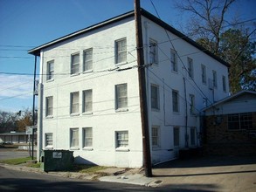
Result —
[[204, 109], [205, 151], [256, 154], [256, 92], [242, 91]]

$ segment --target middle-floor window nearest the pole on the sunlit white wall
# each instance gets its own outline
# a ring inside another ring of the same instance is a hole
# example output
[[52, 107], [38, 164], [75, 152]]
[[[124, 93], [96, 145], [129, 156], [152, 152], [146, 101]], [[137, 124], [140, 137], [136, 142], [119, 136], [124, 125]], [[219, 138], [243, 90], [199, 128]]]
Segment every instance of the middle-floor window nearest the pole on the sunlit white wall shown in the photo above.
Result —
[[115, 109], [128, 107], [127, 84], [115, 86]]

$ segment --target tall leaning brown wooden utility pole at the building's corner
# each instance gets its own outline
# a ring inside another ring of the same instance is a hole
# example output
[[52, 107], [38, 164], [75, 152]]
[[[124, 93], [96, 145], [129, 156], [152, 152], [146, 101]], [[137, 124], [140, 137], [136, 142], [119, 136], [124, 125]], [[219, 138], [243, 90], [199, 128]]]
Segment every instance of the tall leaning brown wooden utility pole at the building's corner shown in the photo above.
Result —
[[142, 17], [140, 0], [135, 0], [135, 29], [136, 29], [136, 46], [137, 46], [137, 63], [140, 88], [140, 108], [142, 118], [142, 145], [143, 145], [143, 166], [145, 176], [152, 176], [151, 154], [149, 145], [149, 120], [147, 106], [147, 89], [144, 68], [143, 39], [142, 39]]

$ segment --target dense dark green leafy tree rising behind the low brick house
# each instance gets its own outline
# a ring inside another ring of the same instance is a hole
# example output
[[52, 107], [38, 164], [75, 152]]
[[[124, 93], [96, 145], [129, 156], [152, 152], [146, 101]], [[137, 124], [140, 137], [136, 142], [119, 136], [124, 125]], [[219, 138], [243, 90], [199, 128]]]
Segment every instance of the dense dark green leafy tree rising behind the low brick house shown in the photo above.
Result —
[[246, 31], [230, 29], [220, 36], [219, 56], [231, 64], [229, 79], [231, 92], [241, 89], [256, 91], [255, 42], [250, 42]]

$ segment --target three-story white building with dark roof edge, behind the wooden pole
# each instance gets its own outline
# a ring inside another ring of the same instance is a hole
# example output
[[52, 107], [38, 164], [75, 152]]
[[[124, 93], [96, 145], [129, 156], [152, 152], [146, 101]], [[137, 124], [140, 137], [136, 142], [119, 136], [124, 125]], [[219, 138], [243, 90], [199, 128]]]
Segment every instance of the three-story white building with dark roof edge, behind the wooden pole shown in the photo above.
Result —
[[[228, 65], [142, 10], [152, 162], [200, 145], [202, 108], [228, 96]], [[167, 35], [168, 34], [168, 35]], [[142, 167], [142, 122], [130, 11], [29, 51], [40, 57], [38, 158]]]

